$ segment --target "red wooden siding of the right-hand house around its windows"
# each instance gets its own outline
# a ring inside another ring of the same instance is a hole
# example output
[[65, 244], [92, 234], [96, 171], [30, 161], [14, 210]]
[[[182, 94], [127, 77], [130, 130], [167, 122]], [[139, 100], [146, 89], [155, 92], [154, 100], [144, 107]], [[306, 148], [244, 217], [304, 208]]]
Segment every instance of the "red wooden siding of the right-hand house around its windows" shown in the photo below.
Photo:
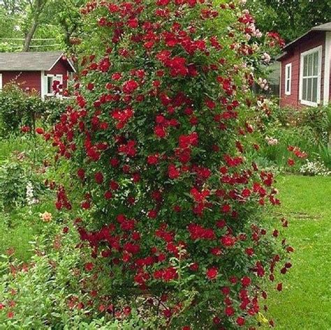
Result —
[[[284, 59], [281, 59], [281, 91], [280, 105], [281, 107], [290, 105], [293, 107], [303, 107], [299, 100], [299, 84], [300, 84], [300, 54], [311, 50], [315, 47], [322, 46], [322, 64], [321, 64], [321, 103], [323, 104], [323, 87], [324, 87], [324, 64], [325, 64], [325, 31], [314, 31], [299, 40], [293, 49], [288, 50], [288, 54]], [[291, 93], [285, 94], [285, 66], [292, 63], [292, 80]], [[331, 95], [331, 93], [330, 93]]]

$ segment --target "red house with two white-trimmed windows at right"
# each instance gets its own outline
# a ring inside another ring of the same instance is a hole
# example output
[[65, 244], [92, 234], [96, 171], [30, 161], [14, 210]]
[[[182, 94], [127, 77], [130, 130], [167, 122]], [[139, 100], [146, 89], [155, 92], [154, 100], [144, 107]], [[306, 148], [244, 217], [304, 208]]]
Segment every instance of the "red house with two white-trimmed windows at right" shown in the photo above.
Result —
[[286, 45], [278, 61], [281, 107], [316, 107], [331, 102], [331, 22]]

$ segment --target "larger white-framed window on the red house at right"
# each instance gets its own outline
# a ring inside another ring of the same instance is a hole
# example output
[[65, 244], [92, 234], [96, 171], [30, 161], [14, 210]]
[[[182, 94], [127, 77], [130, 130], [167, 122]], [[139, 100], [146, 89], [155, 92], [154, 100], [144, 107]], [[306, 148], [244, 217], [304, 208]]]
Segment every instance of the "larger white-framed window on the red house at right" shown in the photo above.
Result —
[[300, 100], [304, 105], [321, 102], [321, 62], [322, 46], [301, 54]]

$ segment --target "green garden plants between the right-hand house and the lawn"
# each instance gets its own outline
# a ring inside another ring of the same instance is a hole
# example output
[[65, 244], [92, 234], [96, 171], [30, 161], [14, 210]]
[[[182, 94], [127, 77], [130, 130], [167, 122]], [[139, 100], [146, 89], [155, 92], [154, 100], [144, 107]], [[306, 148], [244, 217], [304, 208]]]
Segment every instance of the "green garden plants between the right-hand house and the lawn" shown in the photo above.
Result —
[[289, 146], [299, 147], [308, 153], [310, 161], [321, 161], [331, 168], [330, 147], [330, 106], [307, 107], [296, 110], [291, 107], [281, 108], [265, 100], [263, 107], [270, 115], [261, 117], [258, 135], [260, 150], [252, 154], [263, 167], [277, 167], [292, 172], [299, 172], [302, 161], [288, 169], [287, 160], [293, 154]]

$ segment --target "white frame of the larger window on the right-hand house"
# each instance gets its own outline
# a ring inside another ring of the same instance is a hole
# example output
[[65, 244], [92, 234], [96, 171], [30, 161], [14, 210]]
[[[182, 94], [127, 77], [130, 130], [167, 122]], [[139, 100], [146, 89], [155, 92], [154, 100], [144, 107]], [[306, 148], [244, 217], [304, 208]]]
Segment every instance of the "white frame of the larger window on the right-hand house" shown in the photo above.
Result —
[[[322, 46], [318, 46], [315, 48], [312, 48], [311, 50], [307, 50], [307, 52], [302, 52], [300, 54], [300, 84], [299, 84], [299, 99], [300, 103], [303, 105], [309, 105], [311, 107], [317, 107], [321, 103], [321, 73], [322, 73]], [[316, 102], [309, 101], [309, 100], [303, 100], [302, 99], [302, 88], [303, 88], [303, 71], [304, 71], [304, 57], [306, 57], [309, 54], [313, 54], [315, 52], [318, 52], [318, 69], [317, 69], [317, 76], [307, 76], [307, 77], [317, 77], [317, 96], [316, 96]]]

